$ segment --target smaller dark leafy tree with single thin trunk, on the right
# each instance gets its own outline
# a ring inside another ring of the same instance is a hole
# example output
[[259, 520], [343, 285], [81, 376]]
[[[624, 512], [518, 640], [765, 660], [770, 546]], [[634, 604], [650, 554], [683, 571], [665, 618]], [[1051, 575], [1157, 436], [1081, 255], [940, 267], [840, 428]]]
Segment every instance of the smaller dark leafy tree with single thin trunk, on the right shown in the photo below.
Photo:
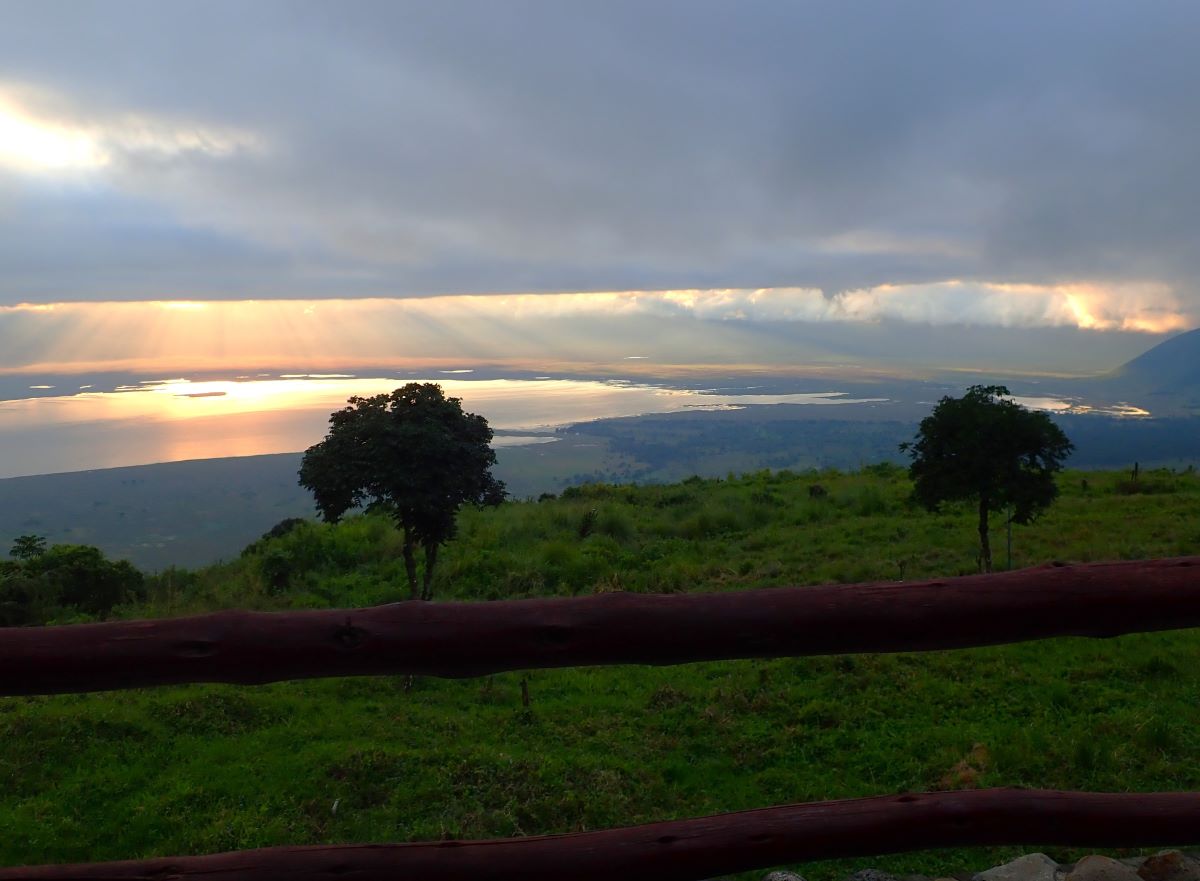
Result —
[[1012, 522], [1028, 523], [1057, 497], [1054, 475], [1074, 449], [1050, 416], [1008, 395], [1003, 385], [972, 385], [962, 397], [943, 397], [917, 437], [900, 444], [912, 457], [908, 475], [926, 509], [978, 501], [979, 559], [989, 573], [988, 513], [1010, 508]]

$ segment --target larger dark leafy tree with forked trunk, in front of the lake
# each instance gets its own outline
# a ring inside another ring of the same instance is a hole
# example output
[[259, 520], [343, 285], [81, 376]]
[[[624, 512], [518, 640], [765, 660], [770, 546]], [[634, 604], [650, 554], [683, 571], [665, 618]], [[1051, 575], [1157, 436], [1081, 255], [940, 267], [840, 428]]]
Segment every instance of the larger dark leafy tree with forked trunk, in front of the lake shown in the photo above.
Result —
[[[300, 485], [331, 523], [352, 508], [390, 514], [404, 534], [409, 597], [431, 599], [438, 547], [454, 538], [458, 509], [504, 499], [504, 484], [491, 474], [492, 430], [433, 383], [348, 403], [330, 415], [325, 439], [305, 451]], [[425, 551], [420, 587], [418, 546]]]

